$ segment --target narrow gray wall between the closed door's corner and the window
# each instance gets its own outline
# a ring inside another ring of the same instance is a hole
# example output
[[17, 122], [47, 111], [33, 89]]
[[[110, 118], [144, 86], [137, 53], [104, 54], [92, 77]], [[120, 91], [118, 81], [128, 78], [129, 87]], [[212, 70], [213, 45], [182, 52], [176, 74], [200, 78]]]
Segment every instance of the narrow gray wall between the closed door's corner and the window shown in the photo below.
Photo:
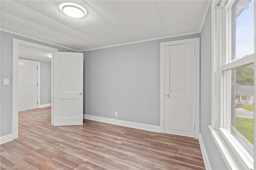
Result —
[[211, 125], [212, 107], [212, 25], [209, 8], [201, 32], [200, 54], [200, 131], [213, 170], [228, 169], [214, 143], [208, 125]]

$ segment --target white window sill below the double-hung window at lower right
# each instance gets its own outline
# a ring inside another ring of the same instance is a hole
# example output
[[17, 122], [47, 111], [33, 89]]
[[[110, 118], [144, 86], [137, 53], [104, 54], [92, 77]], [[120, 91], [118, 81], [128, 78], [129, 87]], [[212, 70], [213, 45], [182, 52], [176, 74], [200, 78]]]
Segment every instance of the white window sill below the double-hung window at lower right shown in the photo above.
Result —
[[[222, 158], [224, 159], [228, 169], [232, 170], [250, 170], [253, 169], [253, 160], [250, 160], [244, 156], [244, 154], [241, 154], [241, 150], [237, 150], [237, 147], [235, 147], [234, 143], [227, 143], [222, 135], [227, 135], [222, 130], [222, 134], [218, 132], [218, 130], [215, 130], [210, 125], [208, 126], [211, 131], [212, 138], [220, 151], [220, 154], [222, 155]], [[227, 136], [227, 140], [229, 140], [229, 136]], [[229, 146], [232, 145], [232, 146]], [[231, 149], [232, 148], [232, 149]], [[236, 148], [236, 149], [234, 149]]]

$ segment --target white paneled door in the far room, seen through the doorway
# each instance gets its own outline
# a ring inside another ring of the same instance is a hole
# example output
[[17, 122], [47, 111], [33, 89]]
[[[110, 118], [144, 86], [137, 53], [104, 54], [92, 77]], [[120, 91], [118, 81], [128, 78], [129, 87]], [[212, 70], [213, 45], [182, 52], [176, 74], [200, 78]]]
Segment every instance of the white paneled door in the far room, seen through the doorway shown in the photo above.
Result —
[[18, 111], [37, 109], [37, 64], [18, 63]]

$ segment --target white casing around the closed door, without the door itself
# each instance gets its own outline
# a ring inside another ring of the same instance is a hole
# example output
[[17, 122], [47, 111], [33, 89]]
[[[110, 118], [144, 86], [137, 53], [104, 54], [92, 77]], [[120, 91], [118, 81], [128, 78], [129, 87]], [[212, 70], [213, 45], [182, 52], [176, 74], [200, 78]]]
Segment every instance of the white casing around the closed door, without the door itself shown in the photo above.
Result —
[[190, 38], [172, 42], [160, 43], [160, 132], [164, 133], [164, 47], [194, 43], [195, 45], [195, 130], [194, 138], [199, 138], [200, 133], [200, 38]]

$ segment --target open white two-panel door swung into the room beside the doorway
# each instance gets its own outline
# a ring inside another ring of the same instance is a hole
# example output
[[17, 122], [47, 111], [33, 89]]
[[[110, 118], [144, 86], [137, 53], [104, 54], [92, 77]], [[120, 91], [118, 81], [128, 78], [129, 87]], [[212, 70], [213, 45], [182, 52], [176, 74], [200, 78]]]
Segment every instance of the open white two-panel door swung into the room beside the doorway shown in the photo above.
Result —
[[54, 52], [53, 125], [83, 125], [83, 53]]

